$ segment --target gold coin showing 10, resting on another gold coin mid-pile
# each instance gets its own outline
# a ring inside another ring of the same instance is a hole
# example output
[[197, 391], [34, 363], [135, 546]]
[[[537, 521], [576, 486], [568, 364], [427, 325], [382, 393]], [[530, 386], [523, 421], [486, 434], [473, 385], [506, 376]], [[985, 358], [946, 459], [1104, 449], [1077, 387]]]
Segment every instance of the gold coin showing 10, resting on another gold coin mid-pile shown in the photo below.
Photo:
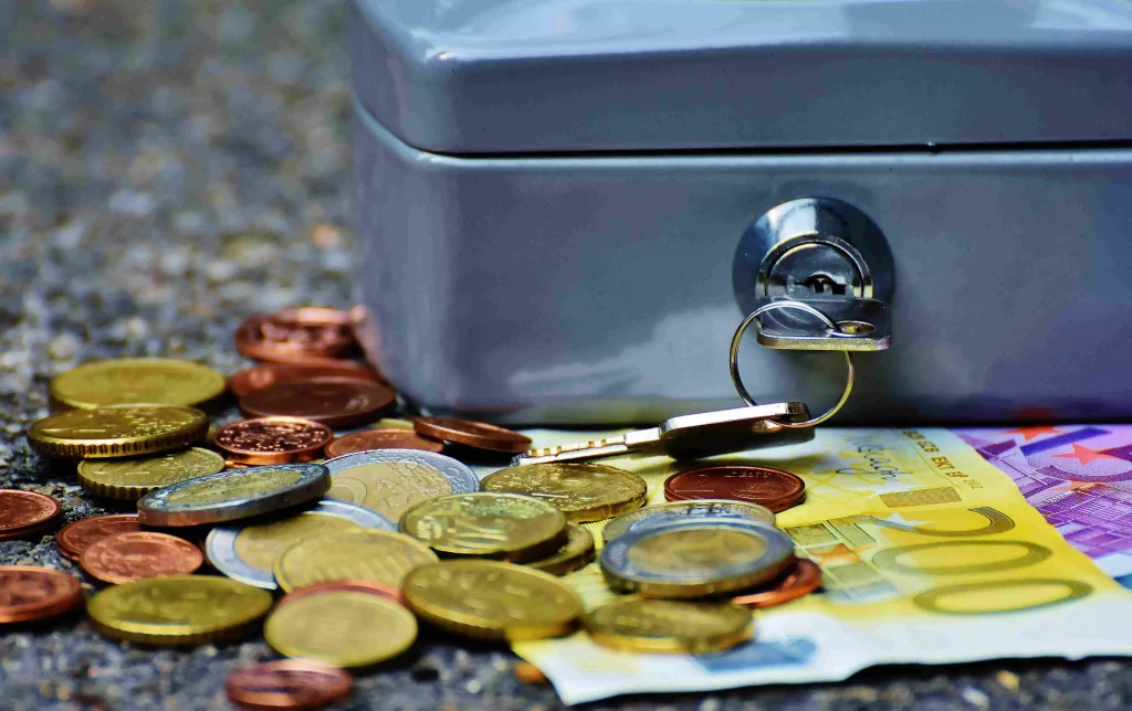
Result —
[[561, 511], [520, 494], [453, 494], [417, 504], [401, 517], [401, 530], [454, 555], [534, 561], [566, 540]]

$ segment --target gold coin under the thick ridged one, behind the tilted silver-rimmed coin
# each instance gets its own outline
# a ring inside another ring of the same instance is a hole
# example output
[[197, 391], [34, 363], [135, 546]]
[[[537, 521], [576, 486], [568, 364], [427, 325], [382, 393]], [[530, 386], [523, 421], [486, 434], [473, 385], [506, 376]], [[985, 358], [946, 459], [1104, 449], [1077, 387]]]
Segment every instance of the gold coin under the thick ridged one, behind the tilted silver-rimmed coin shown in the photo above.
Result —
[[149, 492], [224, 470], [224, 458], [199, 446], [123, 459], [84, 459], [78, 483], [96, 496], [137, 501]]

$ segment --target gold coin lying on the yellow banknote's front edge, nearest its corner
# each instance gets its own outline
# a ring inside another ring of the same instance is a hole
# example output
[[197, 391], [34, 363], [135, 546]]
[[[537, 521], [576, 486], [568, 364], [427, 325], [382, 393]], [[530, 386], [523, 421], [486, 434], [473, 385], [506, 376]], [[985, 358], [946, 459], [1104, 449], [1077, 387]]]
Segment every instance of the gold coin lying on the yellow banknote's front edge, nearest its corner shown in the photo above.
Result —
[[582, 617], [590, 639], [632, 652], [703, 653], [730, 649], [755, 632], [751, 609], [732, 602], [626, 597]]

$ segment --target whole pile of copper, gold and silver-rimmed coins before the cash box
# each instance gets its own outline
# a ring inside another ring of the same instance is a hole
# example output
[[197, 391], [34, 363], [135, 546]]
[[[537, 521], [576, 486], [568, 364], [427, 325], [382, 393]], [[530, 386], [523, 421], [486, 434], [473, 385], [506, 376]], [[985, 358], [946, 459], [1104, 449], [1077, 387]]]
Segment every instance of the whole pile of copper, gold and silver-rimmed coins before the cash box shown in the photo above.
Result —
[[[72, 463], [88, 493], [137, 505], [57, 536], [60, 553], [105, 586], [86, 605], [96, 630], [198, 644], [261, 626], [293, 659], [238, 670], [230, 696], [311, 708], [349, 693], [343, 668], [410, 649], [418, 623], [480, 640], [582, 626], [619, 649], [721, 650], [752, 636], [752, 608], [821, 584], [774, 527], [775, 511], [804, 501], [798, 477], [693, 469], [664, 483], [670, 503], [648, 508], [644, 479], [603, 465], [516, 466], [481, 482], [451, 454], [478, 450], [482, 461], [531, 440], [448, 417], [383, 419], [396, 393], [349, 359], [353, 323], [329, 309], [246, 320], [238, 350], [269, 362], [226, 381], [246, 419], [211, 435], [206, 409], [225, 380], [207, 367], [125, 358], [51, 382], [68, 409], [31, 427], [33, 449]], [[386, 426], [371, 428], [379, 419]], [[0, 538], [38, 536], [61, 519], [33, 492], [0, 491]], [[595, 558], [624, 597], [583, 612], [559, 576]], [[218, 575], [195, 574], [205, 566]], [[0, 622], [82, 606], [72, 575], [0, 567]]]

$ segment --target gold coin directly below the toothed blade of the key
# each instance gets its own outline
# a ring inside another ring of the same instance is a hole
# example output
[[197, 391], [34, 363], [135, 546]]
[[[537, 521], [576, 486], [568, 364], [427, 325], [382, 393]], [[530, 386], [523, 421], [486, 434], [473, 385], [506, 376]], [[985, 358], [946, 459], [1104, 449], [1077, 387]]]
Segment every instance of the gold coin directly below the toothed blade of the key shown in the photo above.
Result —
[[648, 485], [637, 475], [615, 467], [554, 462], [500, 469], [486, 476], [480, 488], [534, 496], [568, 520], [585, 522], [640, 509]]

